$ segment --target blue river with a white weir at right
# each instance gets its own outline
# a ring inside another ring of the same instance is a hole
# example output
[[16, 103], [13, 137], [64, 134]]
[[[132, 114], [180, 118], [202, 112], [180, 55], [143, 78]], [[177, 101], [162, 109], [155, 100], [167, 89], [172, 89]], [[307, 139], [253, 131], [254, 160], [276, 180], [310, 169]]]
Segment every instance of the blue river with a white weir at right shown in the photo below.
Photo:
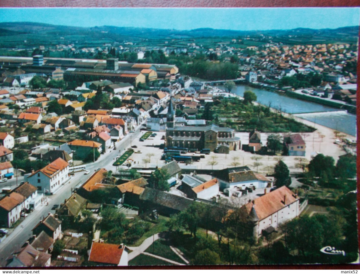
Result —
[[[224, 86], [217, 87], [224, 90]], [[271, 108], [281, 108], [286, 113], [356, 136], [356, 115], [354, 114], [330, 106], [288, 97], [277, 92], [244, 85], [237, 85], [232, 93], [244, 96], [246, 90], [254, 92], [257, 96], [256, 101], [262, 105], [271, 104]]]

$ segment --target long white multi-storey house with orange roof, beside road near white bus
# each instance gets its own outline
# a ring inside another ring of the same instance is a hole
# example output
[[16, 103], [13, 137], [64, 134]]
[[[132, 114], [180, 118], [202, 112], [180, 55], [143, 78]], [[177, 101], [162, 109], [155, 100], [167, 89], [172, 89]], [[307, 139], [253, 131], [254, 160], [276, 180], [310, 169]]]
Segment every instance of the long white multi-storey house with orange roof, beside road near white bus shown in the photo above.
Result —
[[69, 164], [58, 158], [36, 172], [25, 175], [25, 181], [37, 187], [40, 193], [54, 193], [63, 184], [69, 181]]

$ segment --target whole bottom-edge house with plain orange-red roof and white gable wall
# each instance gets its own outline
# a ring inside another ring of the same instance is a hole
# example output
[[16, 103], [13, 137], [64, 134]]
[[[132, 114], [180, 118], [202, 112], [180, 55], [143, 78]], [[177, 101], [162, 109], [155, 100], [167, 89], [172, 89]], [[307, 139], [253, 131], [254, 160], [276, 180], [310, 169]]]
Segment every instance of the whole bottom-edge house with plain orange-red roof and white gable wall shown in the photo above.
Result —
[[127, 266], [127, 251], [125, 245], [93, 242], [91, 244], [89, 262], [101, 266]]

